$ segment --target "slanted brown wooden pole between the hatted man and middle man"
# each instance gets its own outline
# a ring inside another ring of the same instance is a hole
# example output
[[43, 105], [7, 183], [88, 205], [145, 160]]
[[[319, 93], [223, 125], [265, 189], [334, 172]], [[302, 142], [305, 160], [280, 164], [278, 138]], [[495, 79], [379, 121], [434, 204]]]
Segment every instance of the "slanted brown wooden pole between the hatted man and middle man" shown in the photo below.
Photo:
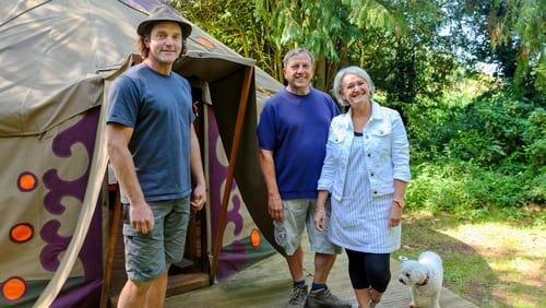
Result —
[[219, 250], [222, 249], [222, 241], [224, 238], [224, 232], [226, 228], [226, 216], [227, 216], [227, 205], [229, 203], [229, 197], [232, 192], [233, 180], [235, 176], [235, 166], [237, 164], [237, 152], [239, 151], [239, 144], [242, 132], [242, 121], [245, 120], [245, 115], [247, 112], [247, 103], [250, 92], [250, 85], [252, 83], [254, 68], [247, 67], [245, 72], [245, 80], [242, 82], [242, 90], [239, 100], [239, 109], [237, 112], [237, 122], [235, 123], [235, 135], [234, 142], [232, 144], [232, 152], [229, 154], [229, 165], [227, 167], [226, 186], [224, 189], [224, 196], [222, 198], [222, 205], [219, 209], [218, 225], [214, 236], [214, 247], [212, 252], [212, 270], [211, 270], [211, 283], [214, 283], [216, 277], [216, 272], [218, 269], [218, 257]]

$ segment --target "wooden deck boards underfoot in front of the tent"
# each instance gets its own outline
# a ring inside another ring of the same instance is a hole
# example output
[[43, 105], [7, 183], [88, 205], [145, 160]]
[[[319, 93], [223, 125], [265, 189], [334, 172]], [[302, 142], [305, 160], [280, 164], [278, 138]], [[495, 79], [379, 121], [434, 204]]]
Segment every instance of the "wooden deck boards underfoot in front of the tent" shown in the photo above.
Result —
[[[307, 239], [304, 239], [306, 241]], [[307, 283], [312, 282], [312, 254], [307, 247], [305, 271]], [[381, 304], [377, 307], [410, 307], [408, 287], [397, 282], [399, 261], [391, 259], [392, 279]], [[347, 273], [347, 257], [342, 253], [330, 273], [329, 287], [334, 294], [353, 301], [358, 307]], [[289, 273], [284, 258], [274, 254], [232, 279], [216, 285], [171, 296], [165, 307], [285, 307], [292, 288]], [[442, 308], [477, 307], [452, 292], [443, 288], [440, 305]], [[427, 307], [423, 305], [422, 307]]]

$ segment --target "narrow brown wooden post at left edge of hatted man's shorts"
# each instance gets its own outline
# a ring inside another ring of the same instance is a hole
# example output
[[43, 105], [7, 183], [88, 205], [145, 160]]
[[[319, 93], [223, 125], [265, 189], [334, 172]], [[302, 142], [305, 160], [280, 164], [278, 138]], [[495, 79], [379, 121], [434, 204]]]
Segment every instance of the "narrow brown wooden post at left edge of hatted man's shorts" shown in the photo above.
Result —
[[119, 190], [115, 190], [116, 198], [114, 201], [114, 214], [110, 224], [110, 234], [108, 235], [108, 250], [106, 252], [106, 263], [104, 270], [103, 288], [100, 291], [100, 308], [108, 307], [108, 299], [110, 297], [111, 273], [114, 270], [114, 254], [116, 252], [116, 240], [119, 232], [119, 223], [121, 221], [121, 201], [119, 198]]

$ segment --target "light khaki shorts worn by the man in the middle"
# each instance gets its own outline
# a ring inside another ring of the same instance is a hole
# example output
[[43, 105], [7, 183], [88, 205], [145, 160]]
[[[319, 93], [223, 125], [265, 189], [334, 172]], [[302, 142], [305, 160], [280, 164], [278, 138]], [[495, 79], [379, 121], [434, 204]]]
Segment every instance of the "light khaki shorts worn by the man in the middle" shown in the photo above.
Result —
[[[341, 248], [328, 239], [327, 230], [314, 227], [316, 199], [284, 200], [283, 222], [273, 222], [275, 241], [283, 247], [286, 254], [293, 256], [301, 242], [301, 235], [307, 225], [307, 235], [311, 250], [320, 253], [340, 254]], [[330, 218], [330, 200], [327, 201], [327, 216]]]

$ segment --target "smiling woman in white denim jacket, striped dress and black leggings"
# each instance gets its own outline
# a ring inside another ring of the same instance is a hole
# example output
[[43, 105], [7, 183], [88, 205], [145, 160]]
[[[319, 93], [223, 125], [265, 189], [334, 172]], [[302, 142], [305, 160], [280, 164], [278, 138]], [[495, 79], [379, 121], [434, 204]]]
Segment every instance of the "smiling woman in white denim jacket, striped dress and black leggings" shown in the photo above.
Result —
[[[318, 182], [314, 222], [345, 248], [348, 272], [360, 307], [381, 299], [391, 279], [390, 253], [400, 248], [410, 151], [397, 111], [372, 100], [375, 86], [357, 67], [337, 72], [334, 96], [349, 106], [332, 119], [327, 157]], [[331, 194], [327, 222], [324, 203]]]

